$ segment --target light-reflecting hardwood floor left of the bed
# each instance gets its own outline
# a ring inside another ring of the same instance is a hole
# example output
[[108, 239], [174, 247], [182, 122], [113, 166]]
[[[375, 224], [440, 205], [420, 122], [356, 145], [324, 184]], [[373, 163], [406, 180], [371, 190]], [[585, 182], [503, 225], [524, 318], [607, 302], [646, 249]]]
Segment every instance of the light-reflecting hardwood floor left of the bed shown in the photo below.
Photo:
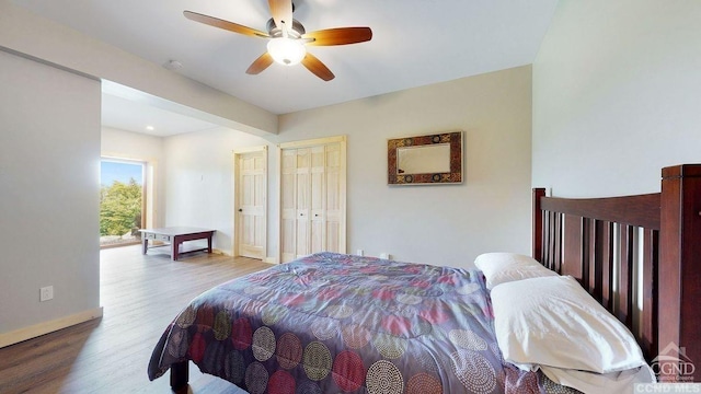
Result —
[[[0, 349], [0, 393], [170, 393], [169, 375], [149, 382], [159, 337], [200, 292], [268, 264], [197, 253], [179, 262], [140, 245], [104, 248], [104, 316]], [[188, 393], [245, 393], [191, 364]]]

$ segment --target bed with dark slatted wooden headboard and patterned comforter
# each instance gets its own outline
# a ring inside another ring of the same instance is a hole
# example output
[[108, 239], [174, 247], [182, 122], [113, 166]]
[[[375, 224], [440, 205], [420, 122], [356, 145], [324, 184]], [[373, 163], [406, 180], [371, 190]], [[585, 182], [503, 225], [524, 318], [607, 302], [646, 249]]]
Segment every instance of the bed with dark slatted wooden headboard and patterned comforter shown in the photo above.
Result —
[[[664, 169], [659, 194], [563, 199], [533, 189], [532, 257], [561, 275], [492, 291], [485, 271], [372, 257], [321, 253], [273, 266], [193, 300], [158, 341], [149, 378], [170, 370], [177, 391], [193, 361], [251, 394], [572, 392], [542, 368], [514, 364], [499, 348], [513, 329], [494, 313], [519, 299], [503, 289], [566, 277], [634, 335], [645, 357], [635, 371], [701, 381], [700, 207], [697, 165]], [[610, 371], [622, 368], [600, 372]]]

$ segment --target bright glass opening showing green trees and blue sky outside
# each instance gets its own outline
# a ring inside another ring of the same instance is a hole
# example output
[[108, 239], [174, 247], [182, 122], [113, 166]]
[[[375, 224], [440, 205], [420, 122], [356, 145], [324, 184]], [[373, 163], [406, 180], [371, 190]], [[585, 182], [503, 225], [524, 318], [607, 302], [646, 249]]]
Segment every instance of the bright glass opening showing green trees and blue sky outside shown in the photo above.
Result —
[[140, 242], [146, 223], [146, 163], [102, 158], [100, 161], [100, 246]]

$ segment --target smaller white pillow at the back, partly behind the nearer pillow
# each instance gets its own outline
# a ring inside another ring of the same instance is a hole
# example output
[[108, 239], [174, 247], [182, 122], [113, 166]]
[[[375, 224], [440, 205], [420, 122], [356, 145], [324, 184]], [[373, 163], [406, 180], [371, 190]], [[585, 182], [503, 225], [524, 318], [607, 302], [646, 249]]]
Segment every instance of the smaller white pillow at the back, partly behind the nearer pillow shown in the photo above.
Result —
[[474, 259], [474, 265], [484, 274], [487, 289], [514, 280], [558, 275], [538, 260], [516, 253], [484, 253]]

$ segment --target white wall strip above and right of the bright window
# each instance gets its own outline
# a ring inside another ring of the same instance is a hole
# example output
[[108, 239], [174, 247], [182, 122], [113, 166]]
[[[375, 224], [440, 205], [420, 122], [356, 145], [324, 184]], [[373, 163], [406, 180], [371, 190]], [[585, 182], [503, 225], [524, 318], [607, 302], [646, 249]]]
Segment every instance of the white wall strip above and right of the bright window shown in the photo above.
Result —
[[103, 126], [101, 142], [102, 157], [146, 162], [146, 205], [149, 212], [146, 227], [150, 229], [163, 227], [162, 212], [165, 211], [163, 138]]

